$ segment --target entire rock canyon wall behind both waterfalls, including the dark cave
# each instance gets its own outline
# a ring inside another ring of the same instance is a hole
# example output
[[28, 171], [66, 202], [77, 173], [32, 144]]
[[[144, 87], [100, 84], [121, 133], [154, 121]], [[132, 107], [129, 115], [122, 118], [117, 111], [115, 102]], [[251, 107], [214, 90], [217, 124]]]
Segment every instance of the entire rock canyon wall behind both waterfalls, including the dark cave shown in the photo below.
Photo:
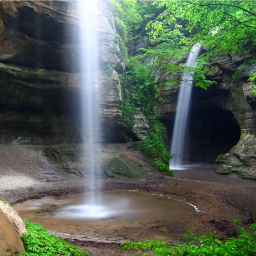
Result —
[[[0, 3], [0, 143], [56, 145], [83, 143], [80, 115], [79, 17], [76, 1], [1, 1]], [[115, 70], [124, 67], [115, 40], [113, 13], [97, 2], [100, 23], [99, 93], [103, 141], [141, 140], [147, 120], [122, 118], [122, 88]], [[237, 79], [248, 56], [212, 59], [210, 77], [217, 84], [194, 88], [188, 129], [189, 161], [214, 163], [216, 172], [256, 179], [255, 95], [252, 74]], [[249, 70], [248, 67], [245, 70]], [[177, 86], [161, 87], [161, 120], [171, 138]], [[193, 122], [192, 122], [193, 121]], [[220, 156], [219, 156], [220, 155]]]

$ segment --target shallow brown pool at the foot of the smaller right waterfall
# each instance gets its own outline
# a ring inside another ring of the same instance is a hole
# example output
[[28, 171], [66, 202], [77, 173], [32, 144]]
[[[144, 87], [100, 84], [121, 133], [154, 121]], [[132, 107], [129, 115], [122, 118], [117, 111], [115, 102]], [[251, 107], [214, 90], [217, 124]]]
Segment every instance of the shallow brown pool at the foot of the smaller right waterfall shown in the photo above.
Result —
[[229, 175], [214, 173], [212, 164], [183, 164], [180, 170], [173, 170], [175, 178], [202, 180], [237, 186], [256, 186], [256, 180], [245, 180]]

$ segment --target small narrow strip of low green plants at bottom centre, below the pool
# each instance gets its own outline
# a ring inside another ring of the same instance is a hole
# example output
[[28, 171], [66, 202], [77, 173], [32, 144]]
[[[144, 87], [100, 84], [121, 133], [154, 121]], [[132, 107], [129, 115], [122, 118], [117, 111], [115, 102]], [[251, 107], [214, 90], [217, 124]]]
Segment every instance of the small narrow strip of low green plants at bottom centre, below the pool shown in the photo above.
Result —
[[132, 251], [132, 250], [148, 251], [148, 250], [155, 250], [156, 248], [169, 247], [169, 246], [170, 246], [170, 243], [166, 241], [154, 239], [154, 240], [148, 240], [145, 242], [127, 241], [126, 243], [122, 244], [121, 248], [127, 251]]

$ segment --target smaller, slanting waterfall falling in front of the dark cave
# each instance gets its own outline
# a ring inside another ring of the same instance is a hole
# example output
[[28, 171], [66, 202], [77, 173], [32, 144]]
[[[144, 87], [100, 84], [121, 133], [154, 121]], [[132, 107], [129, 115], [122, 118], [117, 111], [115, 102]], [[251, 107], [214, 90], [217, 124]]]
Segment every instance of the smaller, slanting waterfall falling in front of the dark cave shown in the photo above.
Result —
[[[189, 52], [187, 67], [194, 67], [196, 58], [200, 51], [200, 45], [194, 45], [192, 51]], [[171, 154], [174, 155], [170, 159], [169, 165], [173, 170], [182, 170], [182, 157], [184, 154], [184, 140], [188, 121], [188, 113], [190, 106], [191, 90], [193, 84], [193, 74], [184, 74], [180, 83], [179, 98], [177, 111], [175, 115], [174, 129], [172, 135]]]

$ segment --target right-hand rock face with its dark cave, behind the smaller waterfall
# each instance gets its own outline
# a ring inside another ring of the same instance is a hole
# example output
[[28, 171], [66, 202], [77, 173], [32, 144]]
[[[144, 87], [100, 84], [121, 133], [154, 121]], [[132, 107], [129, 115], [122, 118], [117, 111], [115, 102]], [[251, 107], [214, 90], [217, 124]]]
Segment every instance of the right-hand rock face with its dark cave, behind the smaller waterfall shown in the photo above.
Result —
[[[233, 79], [235, 72], [244, 68], [246, 58], [248, 56], [212, 59], [210, 79], [217, 84], [206, 91], [193, 88], [185, 158], [203, 163], [214, 163], [216, 159], [216, 172], [256, 179], [256, 97], [252, 93], [253, 83], [247, 81], [253, 70], [247, 67], [239, 79]], [[170, 138], [177, 87], [162, 88], [165, 101], [159, 106]]]

